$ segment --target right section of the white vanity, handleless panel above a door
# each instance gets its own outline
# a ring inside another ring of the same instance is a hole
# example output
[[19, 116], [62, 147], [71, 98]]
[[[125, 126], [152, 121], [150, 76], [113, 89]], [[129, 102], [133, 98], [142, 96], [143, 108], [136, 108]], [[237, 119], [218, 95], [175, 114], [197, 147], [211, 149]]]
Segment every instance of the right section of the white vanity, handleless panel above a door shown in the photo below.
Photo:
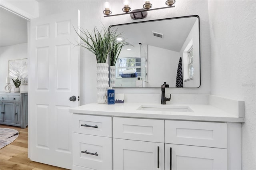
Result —
[[165, 169], [228, 169], [227, 124], [166, 120]]

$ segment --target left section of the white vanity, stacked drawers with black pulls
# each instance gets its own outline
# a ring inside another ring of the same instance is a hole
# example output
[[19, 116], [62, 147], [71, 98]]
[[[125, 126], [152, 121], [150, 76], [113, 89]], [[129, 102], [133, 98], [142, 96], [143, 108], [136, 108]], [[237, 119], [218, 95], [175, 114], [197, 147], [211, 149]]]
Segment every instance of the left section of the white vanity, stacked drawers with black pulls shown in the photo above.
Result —
[[73, 114], [73, 169], [112, 170], [112, 117]]

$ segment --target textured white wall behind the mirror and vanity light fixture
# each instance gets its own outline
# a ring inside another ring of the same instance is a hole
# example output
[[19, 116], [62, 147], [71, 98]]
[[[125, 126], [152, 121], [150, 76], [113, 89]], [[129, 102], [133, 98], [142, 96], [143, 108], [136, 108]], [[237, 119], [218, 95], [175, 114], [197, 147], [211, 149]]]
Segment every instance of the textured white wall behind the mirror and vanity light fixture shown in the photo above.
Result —
[[[154, 8], [164, 7], [166, 0], [150, 1]], [[123, 1], [110, 0], [110, 9], [112, 14], [122, 12]], [[132, 9], [142, 8], [145, 1], [130, 1]], [[176, 1], [175, 8], [156, 10], [148, 12], [148, 16], [142, 20], [132, 20], [129, 15], [103, 17], [105, 1], [39, 1], [39, 16], [65, 12], [67, 10], [79, 9], [81, 14], [81, 26], [84, 29], [92, 30], [93, 26], [106, 27], [114, 24], [123, 24], [128, 22], [138, 22], [143, 20], [155, 20], [161, 18], [172, 18], [179, 16], [199, 15], [200, 16], [200, 36], [201, 36], [201, 87], [196, 89], [166, 89], [166, 93], [172, 94], [208, 94], [210, 93], [210, 30], [208, 22], [208, 2], [200, 0], [182, 0]], [[80, 104], [96, 102], [96, 59], [95, 56], [82, 50], [81, 67], [80, 67]], [[159, 82], [162, 83], [162, 82]], [[135, 89], [135, 88], [118, 88], [116, 93], [156, 93], [160, 94], [160, 88]]]

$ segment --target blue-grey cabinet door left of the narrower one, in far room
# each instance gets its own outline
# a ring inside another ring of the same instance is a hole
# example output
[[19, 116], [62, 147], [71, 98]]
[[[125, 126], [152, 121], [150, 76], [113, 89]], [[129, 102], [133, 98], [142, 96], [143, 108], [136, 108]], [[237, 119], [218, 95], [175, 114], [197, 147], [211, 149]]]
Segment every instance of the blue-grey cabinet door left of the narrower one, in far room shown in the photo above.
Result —
[[3, 121], [15, 124], [15, 107], [14, 103], [3, 102]]

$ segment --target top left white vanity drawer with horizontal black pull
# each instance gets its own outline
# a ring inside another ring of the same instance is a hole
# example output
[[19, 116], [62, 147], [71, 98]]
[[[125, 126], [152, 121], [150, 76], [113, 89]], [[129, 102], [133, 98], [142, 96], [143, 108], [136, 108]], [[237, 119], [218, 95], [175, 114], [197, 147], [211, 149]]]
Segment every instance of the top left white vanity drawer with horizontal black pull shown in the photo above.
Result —
[[73, 114], [73, 132], [112, 137], [112, 117]]

